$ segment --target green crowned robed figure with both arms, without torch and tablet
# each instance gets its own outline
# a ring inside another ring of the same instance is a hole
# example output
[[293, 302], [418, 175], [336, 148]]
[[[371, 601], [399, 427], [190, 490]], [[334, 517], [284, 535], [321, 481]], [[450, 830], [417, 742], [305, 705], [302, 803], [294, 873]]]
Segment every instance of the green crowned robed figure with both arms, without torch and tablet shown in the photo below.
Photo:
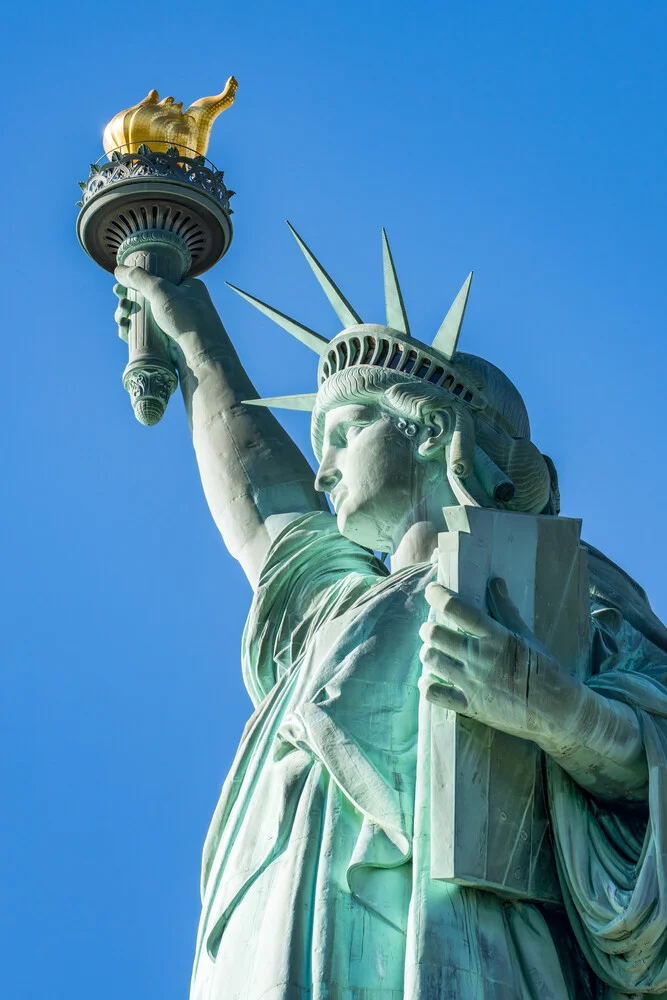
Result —
[[[443, 508], [555, 518], [553, 463], [511, 382], [458, 349], [469, 279], [429, 344], [386, 237], [386, 325], [296, 238], [342, 332], [241, 294], [319, 355], [304, 396], [256, 398], [201, 281], [116, 272], [121, 330], [130, 289], [169, 338], [211, 513], [254, 589], [255, 711], [204, 849], [191, 1000], [667, 996], [667, 630], [589, 547], [584, 682], [502, 579], [484, 610], [436, 582]], [[281, 405], [312, 411], [314, 479]], [[540, 748], [561, 906], [430, 877], [424, 705]]]

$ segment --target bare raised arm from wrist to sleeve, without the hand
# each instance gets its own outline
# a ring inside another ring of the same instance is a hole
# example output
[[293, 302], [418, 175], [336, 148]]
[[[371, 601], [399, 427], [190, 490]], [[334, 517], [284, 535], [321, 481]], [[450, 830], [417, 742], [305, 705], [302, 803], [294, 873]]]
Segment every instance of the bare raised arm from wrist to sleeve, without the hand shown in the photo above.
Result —
[[257, 393], [222, 323], [185, 333], [178, 343], [206, 499], [227, 548], [254, 582], [271, 541], [271, 519], [320, 510], [322, 500], [312, 469], [273, 414], [243, 405]]

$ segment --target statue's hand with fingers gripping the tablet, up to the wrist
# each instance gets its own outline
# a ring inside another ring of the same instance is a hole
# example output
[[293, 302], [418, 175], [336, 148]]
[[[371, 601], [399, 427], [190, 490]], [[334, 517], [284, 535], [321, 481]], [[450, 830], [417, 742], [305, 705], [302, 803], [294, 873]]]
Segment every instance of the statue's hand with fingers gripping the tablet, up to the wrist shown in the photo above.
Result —
[[493, 617], [437, 583], [426, 599], [435, 612], [419, 632], [429, 701], [538, 743], [563, 731], [578, 682], [540, 645], [503, 580], [488, 586]]

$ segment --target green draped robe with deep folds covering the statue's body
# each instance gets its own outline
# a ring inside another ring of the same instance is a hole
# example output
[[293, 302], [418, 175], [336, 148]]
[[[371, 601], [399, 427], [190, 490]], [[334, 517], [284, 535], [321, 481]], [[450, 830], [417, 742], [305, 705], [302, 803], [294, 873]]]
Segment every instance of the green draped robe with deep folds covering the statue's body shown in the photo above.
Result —
[[638, 713], [649, 803], [548, 764], [564, 904], [429, 874], [434, 562], [389, 574], [313, 513], [275, 540], [243, 642], [256, 706], [204, 848], [191, 1000], [667, 996], [667, 631], [591, 550], [590, 683]]

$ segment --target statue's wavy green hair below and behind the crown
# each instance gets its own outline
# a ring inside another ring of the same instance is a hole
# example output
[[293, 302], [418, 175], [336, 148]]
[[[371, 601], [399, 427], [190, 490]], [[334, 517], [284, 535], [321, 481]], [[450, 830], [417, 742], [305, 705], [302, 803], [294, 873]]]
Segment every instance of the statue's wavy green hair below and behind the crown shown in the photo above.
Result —
[[529, 514], [558, 513], [556, 470], [551, 459], [530, 440], [530, 423], [519, 391], [507, 376], [483, 358], [457, 353], [462, 370], [488, 400], [473, 411], [446, 389], [405, 372], [374, 365], [353, 365], [335, 372], [319, 388], [311, 435], [318, 461], [322, 457], [324, 417], [350, 403], [374, 404], [392, 417], [427, 426], [434, 414], [447, 411], [451, 437], [446, 469], [464, 485], [474, 471], [484, 506]]

